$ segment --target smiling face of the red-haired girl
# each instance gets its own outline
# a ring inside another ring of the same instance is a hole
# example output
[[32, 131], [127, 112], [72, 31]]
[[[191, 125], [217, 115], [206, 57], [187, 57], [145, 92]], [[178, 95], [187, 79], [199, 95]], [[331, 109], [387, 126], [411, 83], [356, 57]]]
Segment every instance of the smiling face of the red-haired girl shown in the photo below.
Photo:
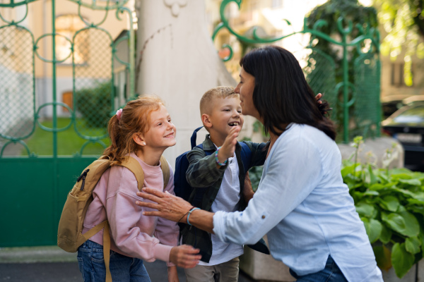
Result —
[[165, 106], [160, 105], [157, 111], [152, 111], [150, 118], [148, 131], [143, 134], [143, 140], [146, 142], [144, 147], [146, 149], [166, 149], [174, 146], [177, 130], [174, 123], [171, 122], [170, 114], [168, 114]]

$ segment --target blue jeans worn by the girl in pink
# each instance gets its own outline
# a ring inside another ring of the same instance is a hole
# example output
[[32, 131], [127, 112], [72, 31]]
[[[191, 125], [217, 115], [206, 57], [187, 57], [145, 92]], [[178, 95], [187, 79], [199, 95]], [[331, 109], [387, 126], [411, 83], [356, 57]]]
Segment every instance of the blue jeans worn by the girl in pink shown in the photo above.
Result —
[[[103, 246], [87, 240], [78, 247], [78, 266], [84, 282], [104, 282], [106, 266], [103, 259]], [[110, 273], [112, 281], [151, 282], [143, 260], [126, 257], [110, 251]]]

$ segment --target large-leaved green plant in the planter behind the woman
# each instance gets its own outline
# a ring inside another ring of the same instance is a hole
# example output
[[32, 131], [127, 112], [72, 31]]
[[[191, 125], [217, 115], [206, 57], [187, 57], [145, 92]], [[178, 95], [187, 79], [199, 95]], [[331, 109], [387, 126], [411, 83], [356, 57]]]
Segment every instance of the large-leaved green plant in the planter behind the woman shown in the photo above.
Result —
[[[353, 156], [361, 141], [355, 139]], [[393, 149], [385, 158], [391, 158]], [[424, 256], [424, 173], [375, 168], [348, 159], [343, 161], [341, 175], [365, 225], [377, 265], [385, 270], [393, 266], [396, 276], [403, 277]]]

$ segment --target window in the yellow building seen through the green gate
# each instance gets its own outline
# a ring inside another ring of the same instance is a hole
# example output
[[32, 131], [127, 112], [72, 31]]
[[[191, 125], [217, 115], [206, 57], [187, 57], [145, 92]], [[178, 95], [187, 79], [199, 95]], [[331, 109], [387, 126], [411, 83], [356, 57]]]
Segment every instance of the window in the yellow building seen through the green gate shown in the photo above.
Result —
[[[85, 23], [77, 15], [64, 15], [56, 18], [56, 32], [59, 35], [56, 37], [56, 57], [61, 61], [71, 53], [71, 41], [73, 35], [78, 30], [86, 27]], [[66, 37], [66, 38], [64, 38]], [[88, 61], [88, 31], [78, 33], [73, 42], [73, 57], [76, 64], [87, 63]], [[72, 56], [69, 56], [63, 63], [72, 63]]]

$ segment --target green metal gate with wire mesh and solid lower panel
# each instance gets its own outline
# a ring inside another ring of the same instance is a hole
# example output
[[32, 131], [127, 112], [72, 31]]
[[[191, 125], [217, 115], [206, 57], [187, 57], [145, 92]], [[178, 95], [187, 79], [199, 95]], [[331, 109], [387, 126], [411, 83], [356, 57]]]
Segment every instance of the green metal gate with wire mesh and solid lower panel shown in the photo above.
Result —
[[0, 247], [56, 245], [67, 192], [134, 97], [127, 2], [0, 1]]

